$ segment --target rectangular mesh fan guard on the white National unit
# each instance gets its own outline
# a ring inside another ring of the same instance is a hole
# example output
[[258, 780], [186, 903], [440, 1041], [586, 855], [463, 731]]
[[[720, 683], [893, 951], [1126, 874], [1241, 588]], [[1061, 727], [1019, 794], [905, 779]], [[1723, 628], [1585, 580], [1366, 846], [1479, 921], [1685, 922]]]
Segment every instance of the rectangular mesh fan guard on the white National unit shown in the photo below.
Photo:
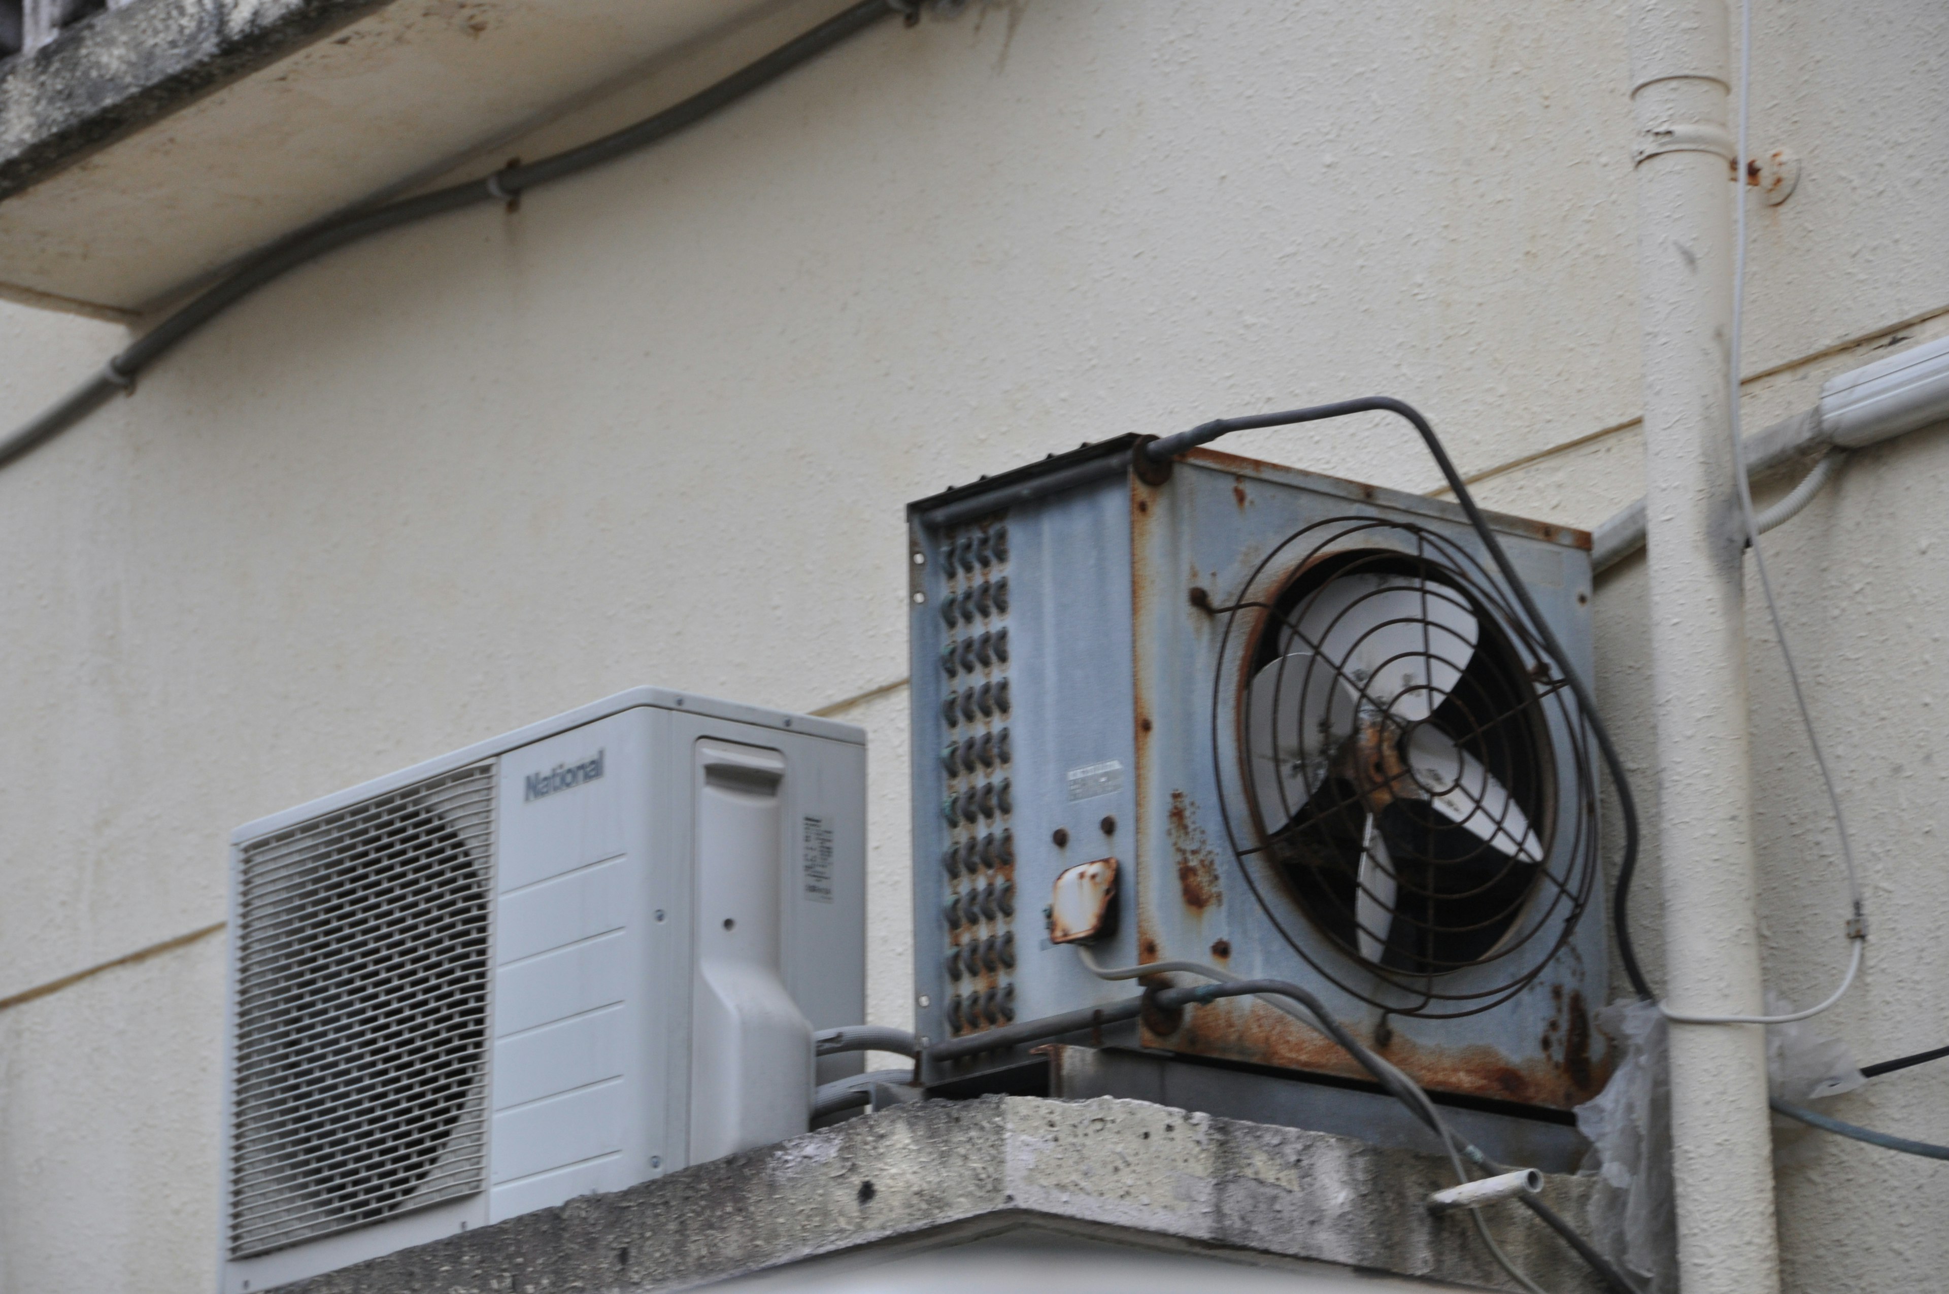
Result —
[[244, 846], [232, 1257], [483, 1187], [493, 774]]

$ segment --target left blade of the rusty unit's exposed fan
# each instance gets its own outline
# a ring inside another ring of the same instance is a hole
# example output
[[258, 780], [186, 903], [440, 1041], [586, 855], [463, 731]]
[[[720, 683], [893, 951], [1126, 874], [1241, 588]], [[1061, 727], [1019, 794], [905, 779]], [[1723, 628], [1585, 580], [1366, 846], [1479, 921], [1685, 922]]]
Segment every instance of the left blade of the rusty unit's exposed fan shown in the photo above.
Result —
[[1310, 651], [1261, 668], [1245, 694], [1251, 789], [1267, 828], [1280, 828], [1319, 783], [1353, 733], [1353, 696]]

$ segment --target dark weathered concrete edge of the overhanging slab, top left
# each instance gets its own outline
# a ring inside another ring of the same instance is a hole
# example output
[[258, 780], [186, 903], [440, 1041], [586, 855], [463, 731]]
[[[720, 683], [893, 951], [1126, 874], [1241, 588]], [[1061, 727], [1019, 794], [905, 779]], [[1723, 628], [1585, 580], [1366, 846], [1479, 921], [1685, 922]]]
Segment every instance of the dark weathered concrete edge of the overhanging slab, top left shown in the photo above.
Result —
[[136, 0], [0, 70], [0, 199], [390, 0]]

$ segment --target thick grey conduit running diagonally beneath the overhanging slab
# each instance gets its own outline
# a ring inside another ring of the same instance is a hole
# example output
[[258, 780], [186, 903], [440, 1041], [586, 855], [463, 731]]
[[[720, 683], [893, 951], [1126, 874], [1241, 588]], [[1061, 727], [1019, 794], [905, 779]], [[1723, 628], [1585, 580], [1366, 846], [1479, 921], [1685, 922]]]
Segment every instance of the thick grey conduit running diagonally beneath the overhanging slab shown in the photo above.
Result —
[[370, 210], [351, 212], [341, 220], [292, 238], [283, 246], [273, 246], [248, 261], [244, 267], [230, 273], [216, 286], [203, 292], [203, 296], [168, 316], [162, 324], [131, 343], [121, 355], [109, 359], [101, 366], [101, 372], [76, 386], [58, 403], [43, 409], [35, 419], [27, 421], [0, 440], [0, 468], [6, 468], [41, 444], [47, 444], [68, 427], [74, 427], [84, 417], [99, 409], [109, 396], [134, 390], [134, 382], [144, 368], [173, 351], [191, 333], [201, 329], [230, 306], [306, 261], [318, 259], [327, 251], [335, 251], [337, 247], [401, 224], [415, 224], [419, 220], [429, 220], [478, 203], [507, 203], [526, 189], [565, 179], [567, 175], [587, 171], [602, 166], [604, 162], [614, 162], [624, 154], [655, 144], [670, 134], [676, 134], [684, 127], [696, 125], [717, 109], [743, 99], [762, 86], [768, 86], [801, 62], [822, 55], [846, 37], [871, 27], [891, 14], [904, 14], [912, 18], [918, 12], [916, 6], [918, 0], [910, 0], [908, 4], [900, 4], [898, 0], [861, 0], [860, 4], [854, 4], [852, 8], [846, 8], [834, 18], [819, 23], [811, 31], [780, 45], [756, 62], [739, 68], [706, 90], [700, 90], [682, 103], [645, 117], [635, 125], [604, 134], [602, 138], [581, 144], [579, 148], [569, 148], [550, 158], [542, 158], [540, 162], [532, 162], [528, 166], [509, 166], [493, 175], [487, 175], [485, 179], [470, 179], [460, 185], [435, 189], [433, 193], [401, 199]]

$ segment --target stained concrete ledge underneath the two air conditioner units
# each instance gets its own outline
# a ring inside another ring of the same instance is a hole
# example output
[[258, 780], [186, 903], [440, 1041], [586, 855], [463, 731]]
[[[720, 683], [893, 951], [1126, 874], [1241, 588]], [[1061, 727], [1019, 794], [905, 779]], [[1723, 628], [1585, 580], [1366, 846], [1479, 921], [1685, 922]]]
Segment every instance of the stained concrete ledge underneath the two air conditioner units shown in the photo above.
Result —
[[[1008, 1228], [1514, 1288], [1466, 1216], [1421, 1206], [1444, 1185], [1446, 1163], [1431, 1156], [1144, 1101], [928, 1101], [285, 1288], [667, 1290]], [[1553, 1177], [1548, 1197], [1585, 1226], [1592, 1189]], [[1538, 1284], [1598, 1288], [1528, 1212], [1499, 1206], [1489, 1218]]]

